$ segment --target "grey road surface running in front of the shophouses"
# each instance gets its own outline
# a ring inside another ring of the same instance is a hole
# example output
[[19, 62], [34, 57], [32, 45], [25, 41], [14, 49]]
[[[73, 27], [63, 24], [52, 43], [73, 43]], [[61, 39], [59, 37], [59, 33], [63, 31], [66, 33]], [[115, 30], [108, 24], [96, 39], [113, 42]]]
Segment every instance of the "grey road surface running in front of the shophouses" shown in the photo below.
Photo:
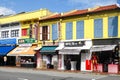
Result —
[[120, 80], [120, 75], [0, 67], [0, 80]]

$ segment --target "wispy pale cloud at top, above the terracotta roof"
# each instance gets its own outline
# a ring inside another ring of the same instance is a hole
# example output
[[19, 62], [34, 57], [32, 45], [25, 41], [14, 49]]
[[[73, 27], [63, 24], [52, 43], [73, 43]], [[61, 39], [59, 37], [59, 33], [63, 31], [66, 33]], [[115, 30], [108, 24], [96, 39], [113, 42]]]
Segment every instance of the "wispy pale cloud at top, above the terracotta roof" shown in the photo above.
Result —
[[95, 6], [116, 4], [117, 0], [68, 0], [68, 2], [74, 5], [74, 7], [85, 9]]

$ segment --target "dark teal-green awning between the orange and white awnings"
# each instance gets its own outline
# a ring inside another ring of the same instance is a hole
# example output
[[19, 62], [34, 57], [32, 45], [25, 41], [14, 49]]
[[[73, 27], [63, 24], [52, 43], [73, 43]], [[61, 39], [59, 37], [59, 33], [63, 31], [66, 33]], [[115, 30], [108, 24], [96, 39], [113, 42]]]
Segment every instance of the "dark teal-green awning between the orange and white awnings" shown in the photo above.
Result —
[[43, 46], [41, 49], [40, 49], [40, 54], [53, 54], [56, 52], [56, 49], [57, 46]]

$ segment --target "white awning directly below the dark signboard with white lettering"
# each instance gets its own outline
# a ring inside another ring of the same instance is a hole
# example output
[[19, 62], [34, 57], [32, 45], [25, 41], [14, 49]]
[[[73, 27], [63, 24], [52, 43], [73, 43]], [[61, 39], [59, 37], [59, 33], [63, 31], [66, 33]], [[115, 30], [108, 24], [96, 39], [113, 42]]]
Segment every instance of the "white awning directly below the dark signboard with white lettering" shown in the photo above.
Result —
[[81, 51], [80, 47], [64, 47], [59, 51], [59, 54], [79, 54]]

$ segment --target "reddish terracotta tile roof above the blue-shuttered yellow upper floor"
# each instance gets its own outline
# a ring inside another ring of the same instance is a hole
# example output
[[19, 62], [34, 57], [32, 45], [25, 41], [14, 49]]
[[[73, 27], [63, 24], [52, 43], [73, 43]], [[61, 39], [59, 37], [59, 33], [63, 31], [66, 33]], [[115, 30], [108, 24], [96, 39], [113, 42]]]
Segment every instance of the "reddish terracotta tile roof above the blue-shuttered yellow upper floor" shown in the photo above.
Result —
[[73, 11], [66, 12], [66, 13], [53, 14], [51, 16], [42, 18], [40, 20], [48, 20], [48, 19], [55, 19], [55, 18], [61, 18], [61, 17], [75, 16], [75, 15], [94, 13], [94, 12], [105, 11], [105, 10], [113, 10], [113, 9], [118, 9], [118, 8], [120, 7], [118, 7], [116, 4], [108, 5], [108, 6], [98, 6], [95, 8], [88, 8], [84, 10], [73, 10]]

